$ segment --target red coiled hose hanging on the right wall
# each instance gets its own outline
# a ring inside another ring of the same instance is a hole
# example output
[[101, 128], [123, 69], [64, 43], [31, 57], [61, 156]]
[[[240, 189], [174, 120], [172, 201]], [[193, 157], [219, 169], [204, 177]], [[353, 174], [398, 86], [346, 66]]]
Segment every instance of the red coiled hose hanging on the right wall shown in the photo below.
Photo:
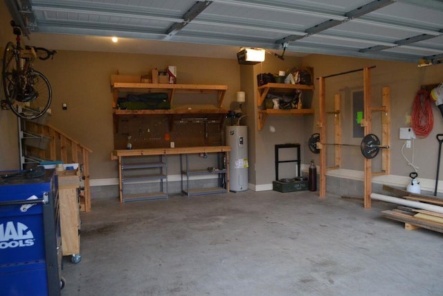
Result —
[[428, 137], [434, 127], [432, 101], [424, 89], [420, 89], [415, 96], [410, 126], [419, 138]]

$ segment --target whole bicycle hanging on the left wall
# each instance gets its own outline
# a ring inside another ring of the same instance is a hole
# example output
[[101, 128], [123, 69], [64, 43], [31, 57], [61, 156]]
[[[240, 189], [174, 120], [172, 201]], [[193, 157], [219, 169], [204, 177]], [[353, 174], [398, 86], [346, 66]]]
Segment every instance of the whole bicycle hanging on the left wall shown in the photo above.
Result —
[[57, 51], [42, 47], [21, 47], [21, 28], [11, 21], [16, 43], [8, 42], [3, 53], [3, 89], [6, 99], [1, 101], [3, 110], [12, 110], [23, 119], [37, 119], [51, 105], [52, 89], [48, 79], [33, 67], [34, 60], [48, 60]]

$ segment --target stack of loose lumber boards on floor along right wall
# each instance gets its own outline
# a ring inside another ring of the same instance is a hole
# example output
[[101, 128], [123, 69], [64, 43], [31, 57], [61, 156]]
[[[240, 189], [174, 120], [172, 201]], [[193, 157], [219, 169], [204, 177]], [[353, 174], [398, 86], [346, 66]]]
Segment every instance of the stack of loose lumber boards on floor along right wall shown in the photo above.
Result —
[[[438, 198], [436, 196], [410, 193], [387, 185], [383, 185], [383, 190], [390, 192], [397, 198], [418, 202], [419, 204], [422, 204], [422, 207], [424, 208], [429, 205], [431, 205], [431, 207], [432, 205], [436, 206], [435, 209], [443, 206], [443, 198]], [[419, 209], [419, 207], [420, 206], [400, 206], [397, 207], [397, 209], [382, 211], [381, 214], [383, 217], [405, 223], [404, 226], [407, 230], [426, 228], [435, 232], [443, 233], [443, 213], [438, 209], [437, 211], [432, 211], [428, 209]]]

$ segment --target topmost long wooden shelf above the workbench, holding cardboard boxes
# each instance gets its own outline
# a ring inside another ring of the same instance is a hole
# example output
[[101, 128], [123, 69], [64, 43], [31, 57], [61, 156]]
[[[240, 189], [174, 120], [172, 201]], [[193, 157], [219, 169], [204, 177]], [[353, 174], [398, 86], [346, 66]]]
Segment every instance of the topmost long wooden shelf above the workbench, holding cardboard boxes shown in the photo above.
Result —
[[117, 99], [119, 92], [167, 92], [168, 100], [172, 105], [174, 94], [177, 92], [188, 94], [211, 94], [218, 95], [218, 107], [223, 103], [224, 95], [228, 89], [227, 85], [183, 85], [183, 84], [159, 84], [159, 83], [126, 83], [114, 82], [111, 83], [114, 100], [112, 107], [117, 107]]

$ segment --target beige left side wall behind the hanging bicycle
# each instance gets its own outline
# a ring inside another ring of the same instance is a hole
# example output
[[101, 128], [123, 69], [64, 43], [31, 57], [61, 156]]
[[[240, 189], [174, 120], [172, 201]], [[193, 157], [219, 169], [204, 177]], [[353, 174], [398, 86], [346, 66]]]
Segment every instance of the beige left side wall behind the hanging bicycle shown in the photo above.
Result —
[[[3, 1], [0, 4], [0, 59], [3, 64], [3, 49], [7, 42], [14, 41], [11, 20]], [[0, 85], [0, 100], [4, 100], [3, 82]], [[0, 171], [19, 168], [19, 140], [17, 134], [17, 117], [8, 110], [0, 110]]]

